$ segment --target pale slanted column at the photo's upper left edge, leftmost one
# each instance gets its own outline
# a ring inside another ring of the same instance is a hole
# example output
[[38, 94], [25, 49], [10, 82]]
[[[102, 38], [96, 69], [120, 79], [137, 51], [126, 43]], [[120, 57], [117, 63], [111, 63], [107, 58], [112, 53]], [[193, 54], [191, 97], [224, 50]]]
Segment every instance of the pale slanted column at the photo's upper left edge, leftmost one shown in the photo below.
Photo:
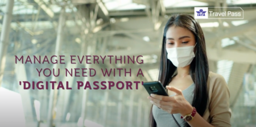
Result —
[[6, 12], [3, 17], [3, 25], [0, 37], [0, 86], [3, 79], [3, 71], [5, 70], [6, 51], [8, 47], [11, 17], [13, 16], [14, 0], [8, 0], [6, 3]]

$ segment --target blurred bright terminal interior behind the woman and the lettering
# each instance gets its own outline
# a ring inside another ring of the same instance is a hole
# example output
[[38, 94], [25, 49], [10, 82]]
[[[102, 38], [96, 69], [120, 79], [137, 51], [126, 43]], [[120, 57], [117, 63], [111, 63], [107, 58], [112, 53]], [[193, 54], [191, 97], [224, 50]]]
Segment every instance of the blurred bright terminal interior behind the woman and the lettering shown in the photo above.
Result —
[[[0, 82], [9, 93], [1, 98], [16, 102], [10, 96], [19, 94], [22, 103], [13, 106], [23, 105], [29, 127], [146, 127], [151, 104], [142, 86], [23, 90], [19, 81], [68, 81], [70, 86], [76, 81], [156, 81], [164, 25], [172, 14], [194, 16], [194, 7], [242, 8], [243, 19], [197, 20], [205, 34], [210, 71], [228, 83], [232, 126], [256, 126], [256, 0], [0, 0]], [[15, 64], [15, 55], [143, 55], [144, 64]], [[38, 77], [36, 69], [52, 67], [141, 68], [144, 77]]]

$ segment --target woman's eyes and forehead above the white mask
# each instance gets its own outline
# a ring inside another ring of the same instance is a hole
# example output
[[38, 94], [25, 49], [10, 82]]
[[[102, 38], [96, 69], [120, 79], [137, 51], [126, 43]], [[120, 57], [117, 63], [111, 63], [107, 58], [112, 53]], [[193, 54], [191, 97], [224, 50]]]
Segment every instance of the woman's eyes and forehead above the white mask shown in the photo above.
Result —
[[166, 32], [166, 48], [194, 46], [195, 36], [191, 31], [182, 27], [172, 26]]

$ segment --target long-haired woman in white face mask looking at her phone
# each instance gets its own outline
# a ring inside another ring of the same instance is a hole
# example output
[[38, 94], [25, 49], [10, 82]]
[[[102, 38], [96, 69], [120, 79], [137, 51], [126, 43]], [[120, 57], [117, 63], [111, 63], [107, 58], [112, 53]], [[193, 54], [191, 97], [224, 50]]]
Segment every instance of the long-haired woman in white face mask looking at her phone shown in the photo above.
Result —
[[204, 33], [190, 15], [172, 16], [163, 35], [159, 81], [170, 96], [151, 95], [151, 127], [229, 127], [225, 79], [209, 72]]

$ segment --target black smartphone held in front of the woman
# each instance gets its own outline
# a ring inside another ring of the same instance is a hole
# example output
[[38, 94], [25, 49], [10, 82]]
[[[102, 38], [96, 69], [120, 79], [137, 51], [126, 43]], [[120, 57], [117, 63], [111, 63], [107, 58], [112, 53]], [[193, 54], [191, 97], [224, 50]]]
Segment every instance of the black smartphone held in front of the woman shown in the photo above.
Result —
[[166, 90], [164, 90], [164, 87], [160, 81], [144, 82], [143, 86], [144, 88], [146, 88], [149, 95], [156, 94], [156, 95], [168, 96]]

